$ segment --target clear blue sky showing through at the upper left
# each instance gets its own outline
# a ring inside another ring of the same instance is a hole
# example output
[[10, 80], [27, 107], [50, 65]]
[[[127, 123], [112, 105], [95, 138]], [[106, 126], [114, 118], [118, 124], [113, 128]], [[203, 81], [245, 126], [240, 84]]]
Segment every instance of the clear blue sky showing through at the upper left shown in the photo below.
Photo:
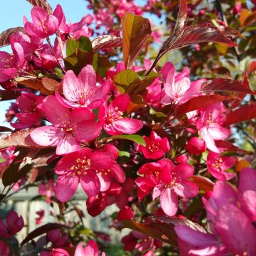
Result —
[[[87, 10], [87, 2], [84, 0], [48, 0], [52, 8], [57, 4], [61, 4], [67, 21], [77, 22], [85, 14]], [[16, 5], [18, 3], [18, 5]], [[1, 0], [0, 8], [0, 33], [8, 28], [22, 27], [23, 16], [27, 16], [31, 20], [30, 11], [33, 6], [26, 0]], [[10, 52], [10, 47], [0, 48], [0, 51]], [[9, 102], [0, 101], [0, 125], [9, 126], [5, 120], [5, 110], [9, 107]]]

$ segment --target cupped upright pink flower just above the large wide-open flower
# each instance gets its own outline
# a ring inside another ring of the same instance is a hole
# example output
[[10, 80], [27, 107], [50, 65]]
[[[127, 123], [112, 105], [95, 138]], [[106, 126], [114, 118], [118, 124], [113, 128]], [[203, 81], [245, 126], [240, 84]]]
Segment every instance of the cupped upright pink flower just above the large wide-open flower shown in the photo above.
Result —
[[83, 67], [78, 77], [72, 70], [68, 70], [63, 78], [63, 93], [66, 99], [58, 92], [55, 93], [58, 101], [65, 107], [98, 108], [107, 99], [110, 90], [110, 81], [96, 86], [95, 70], [91, 65]]

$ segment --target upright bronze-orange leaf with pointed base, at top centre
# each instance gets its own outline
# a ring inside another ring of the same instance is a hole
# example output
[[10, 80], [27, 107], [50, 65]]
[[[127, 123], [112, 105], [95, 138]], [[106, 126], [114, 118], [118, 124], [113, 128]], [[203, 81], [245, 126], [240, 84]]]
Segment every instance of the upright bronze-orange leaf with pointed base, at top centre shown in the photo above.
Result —
[[151, 35], [150, 22], [142, 16], [126, 13], [122, 17], [122, 32], [123, 63], [129, 68]]

